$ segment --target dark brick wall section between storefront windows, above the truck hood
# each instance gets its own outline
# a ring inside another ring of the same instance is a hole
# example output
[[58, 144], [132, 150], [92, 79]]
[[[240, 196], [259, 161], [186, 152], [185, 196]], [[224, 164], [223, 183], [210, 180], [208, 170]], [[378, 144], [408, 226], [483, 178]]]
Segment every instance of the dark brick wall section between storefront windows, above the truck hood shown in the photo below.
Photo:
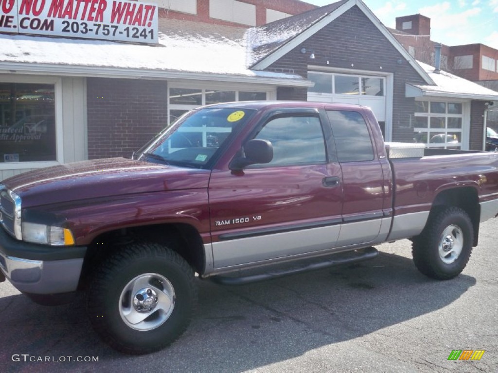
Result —
[[129, 157], [167, 123], [167, 83], [87, 79], [88, 158]]

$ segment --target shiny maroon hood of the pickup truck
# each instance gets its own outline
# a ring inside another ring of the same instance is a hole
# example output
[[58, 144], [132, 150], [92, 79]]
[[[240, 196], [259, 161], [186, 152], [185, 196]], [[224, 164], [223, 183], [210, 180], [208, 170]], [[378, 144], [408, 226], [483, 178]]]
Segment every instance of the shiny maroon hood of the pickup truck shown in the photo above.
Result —
[[179, 168], [125, 158], [68, 163], [2, 182], [22, 207], [155, 191], [207, 188], [209, 170]]

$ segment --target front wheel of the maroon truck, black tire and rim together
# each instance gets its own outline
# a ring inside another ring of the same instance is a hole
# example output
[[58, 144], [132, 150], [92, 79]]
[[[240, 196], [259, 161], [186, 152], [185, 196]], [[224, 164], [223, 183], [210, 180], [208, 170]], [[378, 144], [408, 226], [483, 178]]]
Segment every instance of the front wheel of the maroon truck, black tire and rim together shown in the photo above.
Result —
[[158, 351], [187, 329], [197, 301], [194, 280], [192, 268], [173, 250], [129, 245], [96, 271], [87, 290], [90, 321], [120, 352]]

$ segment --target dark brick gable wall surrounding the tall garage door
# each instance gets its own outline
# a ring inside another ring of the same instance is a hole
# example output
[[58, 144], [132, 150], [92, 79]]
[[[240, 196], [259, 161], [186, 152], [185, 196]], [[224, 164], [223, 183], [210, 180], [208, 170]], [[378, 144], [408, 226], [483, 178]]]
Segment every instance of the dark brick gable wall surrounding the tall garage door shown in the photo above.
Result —
[[[310, 60], [309, 53], [302, 54], [302, 47], [313, 50], [315, 59]], [[355, 70], [393, 73], [392, 141], [413, 142], [410, 119], [415, 111], [415, 99], [405, 97], [405, 82], [425, 83], [357, 6], [349, 9], [266, 70], [293, 71], [307, 77], [308, 63], [349, 69], [353, 74]], [[293, 97], [289, 97], [288, 91], [285, 91], [285, 95], [277, 92], [277, 98], [283, 99], [285, 96], [285, 99], [303, 99], [302, 90], [294, 92]]]

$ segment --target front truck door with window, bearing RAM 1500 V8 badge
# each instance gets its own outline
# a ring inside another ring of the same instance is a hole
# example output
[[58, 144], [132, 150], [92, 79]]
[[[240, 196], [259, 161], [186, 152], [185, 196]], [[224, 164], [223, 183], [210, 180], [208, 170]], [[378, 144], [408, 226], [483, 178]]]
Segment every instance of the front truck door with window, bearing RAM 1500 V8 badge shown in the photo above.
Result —
[[[214, 170], [209, 185], [215, 269], [269, 261], [336, 245], [342, 175], [316, 109], [268, 117], [248, 138], [273, 146], [273, 160], [243, 171]], [[325, 125], [324, 125], [325, 123]]]

